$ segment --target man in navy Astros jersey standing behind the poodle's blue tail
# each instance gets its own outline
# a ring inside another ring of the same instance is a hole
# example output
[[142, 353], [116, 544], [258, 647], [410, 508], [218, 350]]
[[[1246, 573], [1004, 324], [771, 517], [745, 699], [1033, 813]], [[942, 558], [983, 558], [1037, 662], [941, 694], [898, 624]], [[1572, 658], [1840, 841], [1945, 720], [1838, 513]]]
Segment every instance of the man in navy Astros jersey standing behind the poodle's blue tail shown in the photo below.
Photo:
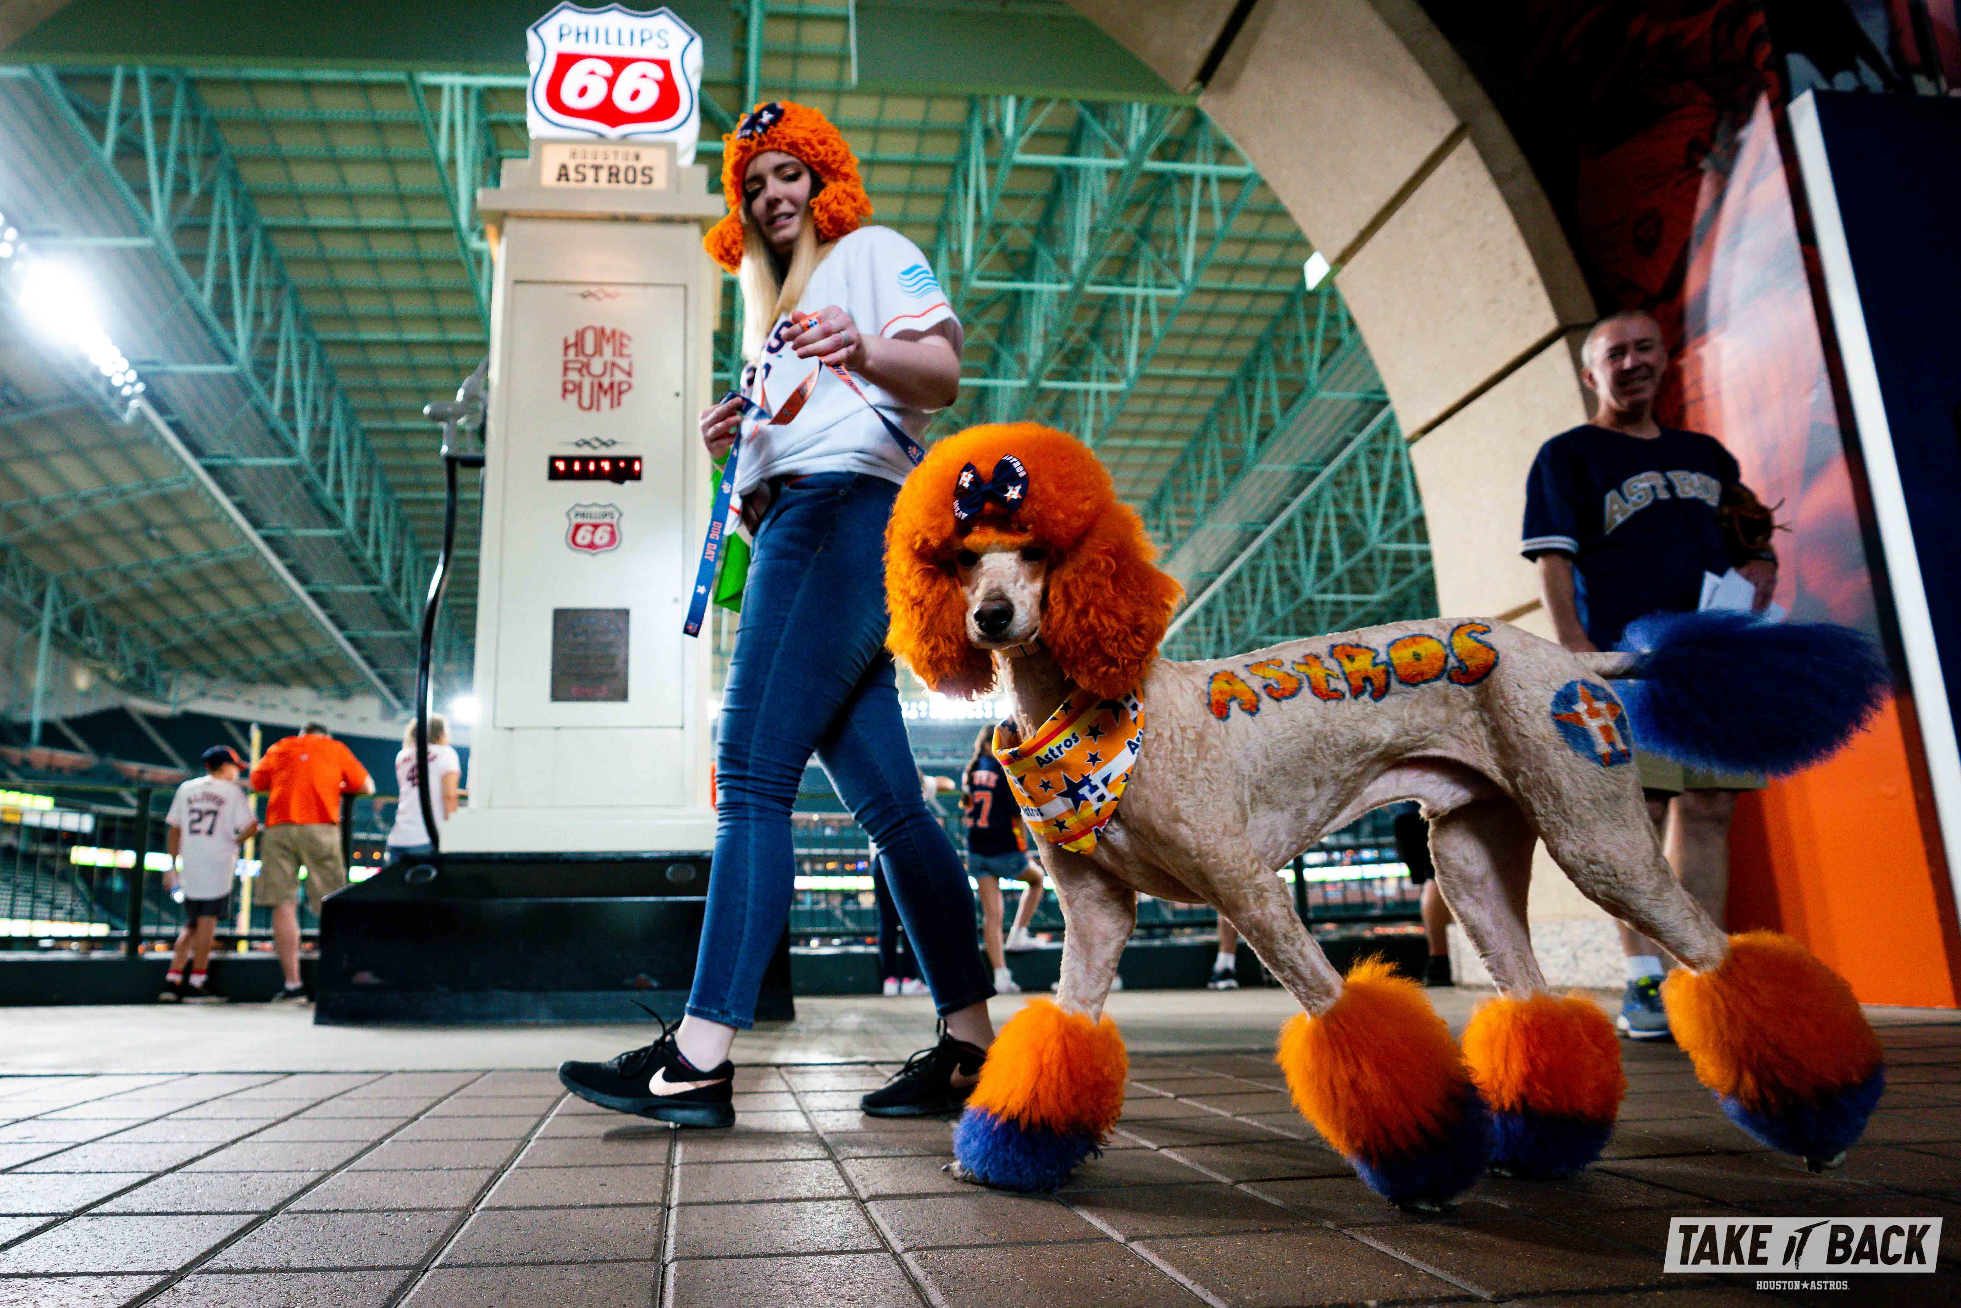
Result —
[[[1655, 422], [1667, 363], [1661, 327], [1647, 314], [1600, 320], [1581, 347], [1581, 380], [1598, 396], [1598, 412], [1545, 441], [1526, 482], [1522, 551], [1539, 567], [1555, 639], [1577, 653], [1612, 649], [1645, 614], [1698, 608], [1704, 573], [1743, 573], [1759, 610], [1777, 588], [1777, 555], [1741, 551], [1722, 529], [1724, 494], [1741, 486], [1735, 459], [1716, 437]], [[1763, 779], [1702, 773], [1639, 751], [1635, 767], [1669, 865], [1720, 924], [1735, 792]], [[1628, 990], [1616, 1026], [1632, 1039], [1667, 1039], [1661, 949], [1626, 924], [1620, 935]]]

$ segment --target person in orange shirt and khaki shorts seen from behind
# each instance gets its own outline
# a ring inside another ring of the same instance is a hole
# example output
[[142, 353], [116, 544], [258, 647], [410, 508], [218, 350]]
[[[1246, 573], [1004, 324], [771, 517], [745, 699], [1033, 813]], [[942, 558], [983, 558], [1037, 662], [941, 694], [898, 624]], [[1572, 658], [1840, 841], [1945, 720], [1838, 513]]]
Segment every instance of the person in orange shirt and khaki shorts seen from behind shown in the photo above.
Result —
[[300, 984], [300, 867], [306, 896], [320, 900], [347, 884], [341, 861], [341, 796], [375, 794], [375, 779], [347, 745], [308, 722], [298, 735], [273, 743], [251, 771], [251, 788], [269, 794], [259, 837], [259, 884], [253, 898], [273, 910], [273, 947], [286, 988], [273, 1002], [306, 998]]

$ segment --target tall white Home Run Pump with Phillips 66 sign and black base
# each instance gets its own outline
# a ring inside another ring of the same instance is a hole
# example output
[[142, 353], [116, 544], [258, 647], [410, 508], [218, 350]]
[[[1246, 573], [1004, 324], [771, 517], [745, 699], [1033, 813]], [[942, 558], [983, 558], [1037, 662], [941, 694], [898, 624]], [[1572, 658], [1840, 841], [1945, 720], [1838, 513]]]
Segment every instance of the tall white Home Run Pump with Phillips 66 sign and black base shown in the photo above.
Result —
[[[675, 1016], [694, 973], [710, 643], [682, 620], [724, 212], [692, 163], [700, 37], [559, 4], [528, 47], [529, 157], [477, 194], [496, 282], [469, 804], [435, 855], [327, 902], [320, 1022]], [[786, 947], [765, 1010], [790, 1014]]]

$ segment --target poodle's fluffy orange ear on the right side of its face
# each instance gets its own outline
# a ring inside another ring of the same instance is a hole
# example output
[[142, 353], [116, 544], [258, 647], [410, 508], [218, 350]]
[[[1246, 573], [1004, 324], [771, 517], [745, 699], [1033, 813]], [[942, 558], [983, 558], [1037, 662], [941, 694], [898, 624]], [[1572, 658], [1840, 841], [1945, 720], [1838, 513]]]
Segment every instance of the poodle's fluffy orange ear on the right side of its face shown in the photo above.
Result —
[[1130, 504], [1110, 504], [1049, 569], [1041, 643], [1079, 686], [1102, 698], [1137, 688], [1184, 588], [1151, 565]]

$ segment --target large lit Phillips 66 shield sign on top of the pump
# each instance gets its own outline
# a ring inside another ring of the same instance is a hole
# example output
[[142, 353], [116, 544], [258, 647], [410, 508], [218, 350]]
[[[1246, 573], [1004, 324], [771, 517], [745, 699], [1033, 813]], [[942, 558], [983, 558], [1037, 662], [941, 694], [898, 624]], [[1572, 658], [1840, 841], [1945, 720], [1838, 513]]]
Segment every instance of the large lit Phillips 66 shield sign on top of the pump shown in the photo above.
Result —
[[529, 25], [526, 57], [533, 137], [673, 141], [679, 163], [694, 161], [702, 39], [671, 10], [586, 10], [567, 0]]

